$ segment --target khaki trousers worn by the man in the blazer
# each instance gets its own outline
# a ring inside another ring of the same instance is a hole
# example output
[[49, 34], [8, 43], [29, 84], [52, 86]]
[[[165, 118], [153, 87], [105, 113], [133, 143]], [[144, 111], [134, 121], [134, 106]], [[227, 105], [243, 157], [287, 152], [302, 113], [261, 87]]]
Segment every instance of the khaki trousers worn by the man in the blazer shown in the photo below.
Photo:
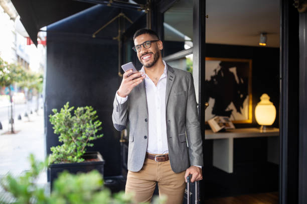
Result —
[[157, 162], [146, 158], [141, 170], [128, 171], [125, 193], [132, 192], [135, 203], [149, 202], [158, 182], [159, 194], [167, 196], [167, 204], [181, 204], [186, 187], [185, 173], [175, 173], [170, 160]]

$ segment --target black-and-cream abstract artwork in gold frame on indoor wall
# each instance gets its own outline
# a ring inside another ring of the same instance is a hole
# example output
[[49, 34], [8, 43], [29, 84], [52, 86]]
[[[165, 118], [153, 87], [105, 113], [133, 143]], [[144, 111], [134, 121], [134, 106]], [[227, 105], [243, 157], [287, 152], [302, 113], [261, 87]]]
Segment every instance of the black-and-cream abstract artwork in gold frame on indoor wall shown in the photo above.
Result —
[[206, 57], [205, 72], [206, 121], [219, 115], [233, 123], [251, 123], [252, 60]]

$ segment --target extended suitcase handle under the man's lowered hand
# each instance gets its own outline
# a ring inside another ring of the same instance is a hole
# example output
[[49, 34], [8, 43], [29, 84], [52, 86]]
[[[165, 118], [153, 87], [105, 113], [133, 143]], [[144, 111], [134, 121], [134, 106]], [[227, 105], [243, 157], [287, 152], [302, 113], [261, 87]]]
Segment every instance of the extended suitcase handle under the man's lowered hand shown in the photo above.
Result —
[[200, 203], [200, 183], [199, 181], [190, 182], [192, 175], [187, 177], [187, 185], [185, 189], [184, 204]]

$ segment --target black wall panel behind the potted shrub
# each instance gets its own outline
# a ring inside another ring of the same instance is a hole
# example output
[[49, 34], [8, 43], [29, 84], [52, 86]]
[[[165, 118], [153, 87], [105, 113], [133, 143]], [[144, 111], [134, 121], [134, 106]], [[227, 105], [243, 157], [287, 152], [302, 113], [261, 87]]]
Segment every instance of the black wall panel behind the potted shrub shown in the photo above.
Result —
[[[119, 87], [117, 41], [70, 39], [48, 34], [46, 74], [46, 146], [60, 144], [49, 117], [52, 108], [60, 109], [67, 101], [75, 107], [91, 105], [102, 121], [104, 136], [88, 150], [98, 150], [106, 160], [105, 175], [120, 174], [119, 132], [113, 128], [112, 110]], [[89, 43], [91, 41], [91, 43]]]

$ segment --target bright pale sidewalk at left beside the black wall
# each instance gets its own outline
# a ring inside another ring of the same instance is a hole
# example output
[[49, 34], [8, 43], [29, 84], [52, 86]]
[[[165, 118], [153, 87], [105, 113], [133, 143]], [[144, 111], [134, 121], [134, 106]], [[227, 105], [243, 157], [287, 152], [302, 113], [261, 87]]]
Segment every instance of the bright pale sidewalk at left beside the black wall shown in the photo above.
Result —
[[[29, 121], [30, 118], [30, 121]], [[22, 120], [15, 118], [14, 129], [17, 133], [11, 134], [8, 120], [2, 121], [3, 129], [0, 130], [0, 176], [9, 171], [14, 175], [30, 168], [28, 156], [33, 153], [37, 160], [44, 160], [44, 112], [39, 109], [39, 114], [29, 114], [29, 118], [22, 115]], [[44, 172], [39, 179], [40, 183], [47, 182]]]

